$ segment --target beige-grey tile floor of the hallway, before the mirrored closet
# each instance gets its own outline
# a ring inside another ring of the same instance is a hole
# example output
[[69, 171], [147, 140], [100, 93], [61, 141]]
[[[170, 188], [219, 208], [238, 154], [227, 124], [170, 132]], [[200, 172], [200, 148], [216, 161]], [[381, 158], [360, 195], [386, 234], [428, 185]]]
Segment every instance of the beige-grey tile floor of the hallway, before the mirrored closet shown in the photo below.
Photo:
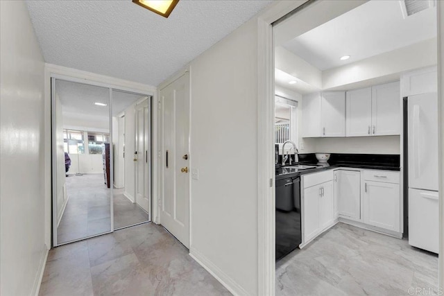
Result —
[[49, 251], [39, 295], [231, 295], [163, 227], [146, 223]]

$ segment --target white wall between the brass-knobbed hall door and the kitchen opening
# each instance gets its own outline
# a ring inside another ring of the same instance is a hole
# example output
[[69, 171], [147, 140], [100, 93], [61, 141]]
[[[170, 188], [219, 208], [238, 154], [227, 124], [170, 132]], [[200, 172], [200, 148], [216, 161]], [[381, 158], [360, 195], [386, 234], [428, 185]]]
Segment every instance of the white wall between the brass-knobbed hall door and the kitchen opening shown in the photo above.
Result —
[[257, 21], [191, 62], [190, 254], [257, 295]]

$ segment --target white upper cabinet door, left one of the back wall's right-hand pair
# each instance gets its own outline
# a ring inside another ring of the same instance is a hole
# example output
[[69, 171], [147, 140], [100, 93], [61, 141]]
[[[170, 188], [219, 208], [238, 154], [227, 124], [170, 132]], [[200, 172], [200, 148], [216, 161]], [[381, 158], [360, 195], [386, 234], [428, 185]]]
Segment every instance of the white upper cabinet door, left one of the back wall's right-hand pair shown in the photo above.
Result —
[[356, 89], [346, 93], [345, 136], [370, 136], [372, 125], [372, 89]]

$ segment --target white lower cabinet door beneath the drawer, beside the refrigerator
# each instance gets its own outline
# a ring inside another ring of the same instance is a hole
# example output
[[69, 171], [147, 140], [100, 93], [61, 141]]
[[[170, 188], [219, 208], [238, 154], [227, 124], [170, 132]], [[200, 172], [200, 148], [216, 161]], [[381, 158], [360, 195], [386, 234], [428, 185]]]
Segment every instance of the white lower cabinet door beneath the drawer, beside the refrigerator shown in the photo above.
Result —
[[364, 182], [364, 223], [400, 232], [399, 184]]

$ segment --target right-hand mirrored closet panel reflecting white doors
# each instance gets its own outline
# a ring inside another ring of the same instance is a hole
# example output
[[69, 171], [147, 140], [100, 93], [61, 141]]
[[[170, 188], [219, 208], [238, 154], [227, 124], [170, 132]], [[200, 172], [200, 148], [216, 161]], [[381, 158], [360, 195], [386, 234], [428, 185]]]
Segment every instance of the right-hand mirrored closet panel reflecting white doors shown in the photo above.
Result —
[[114, 229], [149, 220], [151, 207], [150, 98], [112, 91]]

